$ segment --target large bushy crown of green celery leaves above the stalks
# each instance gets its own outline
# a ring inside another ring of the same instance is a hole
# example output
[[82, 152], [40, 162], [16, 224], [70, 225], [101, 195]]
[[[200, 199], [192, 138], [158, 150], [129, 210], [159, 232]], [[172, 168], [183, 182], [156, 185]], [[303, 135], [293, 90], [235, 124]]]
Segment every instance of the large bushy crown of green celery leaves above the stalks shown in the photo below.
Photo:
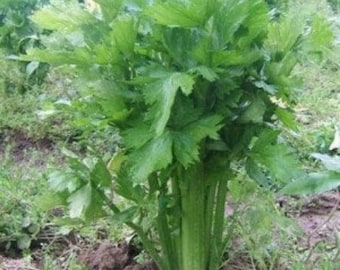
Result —
[[[173, 161], [188, 167], [215, 152], [247, 157], [256, 171], [259, 164], [276, 167], [267, 164], [274, 159], [259, 158], [266, 153], [289, 159], [281, 146], [256, 155], [249, 154], [249, 145], [266, 136], [268, 123], [294, 127], [285, 108], [294, 102], [291, 72], [329, 44], [331, 34], [320, 31], [326, 29], [320, 18], [311, 18], [312, 30], [306, 31], [303, 19], [271, 22], [263, 1], [98, 4], [116, 12], [98, 17], [74, 1], [36, 12], [34, 22], [57, 31], [42, 39], [48, 50], [30, 49], [22, 59], [81, 70], [82, 109], [123, 131], [134, 181]], [[272, 175], [291, 178], [282, 173]]]

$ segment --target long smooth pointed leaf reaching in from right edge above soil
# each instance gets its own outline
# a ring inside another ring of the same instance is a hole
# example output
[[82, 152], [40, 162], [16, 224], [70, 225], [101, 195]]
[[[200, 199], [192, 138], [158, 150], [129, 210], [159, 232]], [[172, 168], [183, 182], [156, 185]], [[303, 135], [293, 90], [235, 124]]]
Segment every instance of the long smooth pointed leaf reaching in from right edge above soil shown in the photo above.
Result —
[[297, 179], [280, 190], [285, 195], [310, 195], [327, 192], [340, 187], [340, 173], [319, 172]]

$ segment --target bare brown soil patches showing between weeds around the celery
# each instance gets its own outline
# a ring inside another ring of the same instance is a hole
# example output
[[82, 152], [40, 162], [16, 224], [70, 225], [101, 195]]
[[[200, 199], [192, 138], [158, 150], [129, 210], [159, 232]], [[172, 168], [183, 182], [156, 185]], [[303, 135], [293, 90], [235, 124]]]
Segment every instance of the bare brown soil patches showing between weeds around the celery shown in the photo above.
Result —
[[[16, 136], [17, 146], [14, 147], [13, 155], [21, 162], [25, 159], [21, 154], [23, 148], [33, 147], [49, 151], [53, 147], [51, 141], [32, 141], [23, 134]], [[2, 150], [4, 149], [0, 149], [0, 153]], [[293, 200], [293, 198], [281, 198], [279, 203], [287, 209], [288, 216], [296, 219], [304, 232], [304, 235], [297, 239], [297, 246], [300, 249], [313, 250], [320, 243], [326, 243], [327, 246], [336, 248], [336, 235], [340, 238], [340, 193], [329, 192], [307, 197], [300, 204], [300, 207], [291, 207]], [[69, 246], [65, 244], [64, 249], [67, 248]], [[138, 254], [136, 249], [125, 242], [111, 243], [108, 240], [103, 240], [99, 244], [79, 245], [77, 250], [79, 264], [86, 265], [89, 270], [157, 270], [153, 263], [143, 265], [136, 263], [134, 260], [136, 254]], [[32, 254], [37, 252], [39, 253], [39, 250], [32, 252]], [[18, 258], [13, 254], [11, 255], [9, 257], [0, 254], [0, 270], [44, 269], [42, 256], [34, 258], [32, 255], [29, 258]], [[313, 256], [318, 256], [318, 254], [313, 254]], [[235, 257], [225, 267], [225, 270], [236, 269], [252, 269], [246, 255]]]

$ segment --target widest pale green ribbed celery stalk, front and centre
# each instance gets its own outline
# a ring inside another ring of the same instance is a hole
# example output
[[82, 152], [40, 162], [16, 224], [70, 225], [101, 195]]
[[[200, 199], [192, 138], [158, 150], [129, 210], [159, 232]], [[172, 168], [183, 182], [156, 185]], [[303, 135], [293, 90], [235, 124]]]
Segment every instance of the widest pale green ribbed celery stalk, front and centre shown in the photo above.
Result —
[[182, 263], [178, 270], [206, 270], [203, 170], [196, 165], [180, 171]]

